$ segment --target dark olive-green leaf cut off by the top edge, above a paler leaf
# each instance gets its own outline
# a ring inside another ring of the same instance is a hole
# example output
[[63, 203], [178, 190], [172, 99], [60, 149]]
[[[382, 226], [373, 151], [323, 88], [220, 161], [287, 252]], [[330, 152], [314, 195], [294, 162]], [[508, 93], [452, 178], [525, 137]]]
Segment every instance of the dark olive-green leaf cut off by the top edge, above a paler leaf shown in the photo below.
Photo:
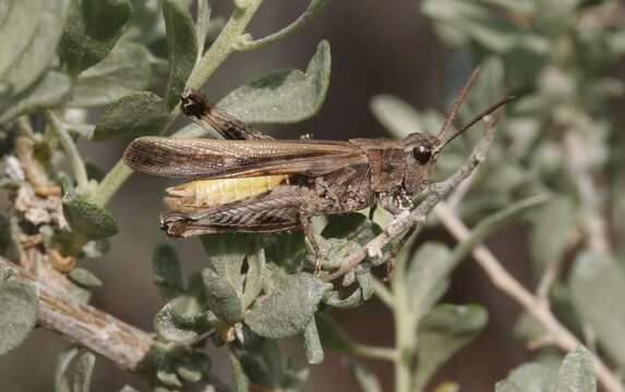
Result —
[[61, 46], [61, 60], [77, 75], [113, 48], [132, 14], [129, 0], [73, 0]]

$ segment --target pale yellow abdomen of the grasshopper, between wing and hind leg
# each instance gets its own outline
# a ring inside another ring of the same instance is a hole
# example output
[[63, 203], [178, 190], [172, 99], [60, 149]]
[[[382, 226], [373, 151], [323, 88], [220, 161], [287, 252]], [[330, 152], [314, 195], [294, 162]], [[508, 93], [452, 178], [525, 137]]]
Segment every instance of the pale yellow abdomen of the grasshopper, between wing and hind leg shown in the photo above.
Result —
[[170, 211], [193, 212], [199, 209], [245, 199], [288, 183], [288, 175], [197, 180], [168, 187], [164, 203]]

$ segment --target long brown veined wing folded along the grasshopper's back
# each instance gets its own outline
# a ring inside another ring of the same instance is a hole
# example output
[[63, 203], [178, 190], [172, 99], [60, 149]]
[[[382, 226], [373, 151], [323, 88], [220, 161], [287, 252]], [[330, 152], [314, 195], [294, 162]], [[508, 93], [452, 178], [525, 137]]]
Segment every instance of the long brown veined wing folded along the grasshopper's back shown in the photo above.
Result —
[[221, 140], [140, 137], [123, 159], [137, 172], [172, 179], [231, 179], [272, 174], [317, 176], [366, 155], [349, 142]]

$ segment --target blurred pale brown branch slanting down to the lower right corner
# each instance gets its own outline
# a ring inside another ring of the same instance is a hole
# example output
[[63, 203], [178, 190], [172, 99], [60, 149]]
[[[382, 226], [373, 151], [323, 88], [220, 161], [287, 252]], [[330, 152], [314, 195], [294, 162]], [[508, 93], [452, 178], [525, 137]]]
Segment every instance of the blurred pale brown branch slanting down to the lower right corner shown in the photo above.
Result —
[[[434, 211], [443, 225], [458, 241], [466, 241], [470, 236], [469, 229], [445, 204], [436, 206]], [[484, 270], [491, 282], [504, 294], [516, 301], [531, 317], [533, 317], [545, 330], [545, 339], [542, 343], [552, 343], [565, 352], [569, 352], [581, 342], [564, 327], [553, 315], [545, 302], [532, 295], [512, 274], [509, 274], [497, 258], [483, 245], [477, 246], [473, 257]], [[597, 378], [605, 391], [622, 392], [623, 385], [618, 378], [603, 364], [601, 358], [592, 353]]]

